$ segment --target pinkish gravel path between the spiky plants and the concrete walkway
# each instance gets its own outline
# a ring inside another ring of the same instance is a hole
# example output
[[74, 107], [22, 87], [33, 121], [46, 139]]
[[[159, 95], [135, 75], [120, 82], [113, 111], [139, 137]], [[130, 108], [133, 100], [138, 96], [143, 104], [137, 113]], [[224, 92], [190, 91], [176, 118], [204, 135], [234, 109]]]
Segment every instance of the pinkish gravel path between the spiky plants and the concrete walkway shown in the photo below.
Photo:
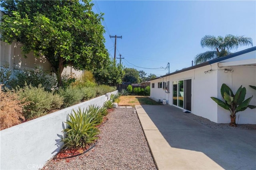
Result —
[[74, 158], [51, 160], [46, 170], [156, 170], [135, 109], [115, 109], [100, 127], [98, 144]]

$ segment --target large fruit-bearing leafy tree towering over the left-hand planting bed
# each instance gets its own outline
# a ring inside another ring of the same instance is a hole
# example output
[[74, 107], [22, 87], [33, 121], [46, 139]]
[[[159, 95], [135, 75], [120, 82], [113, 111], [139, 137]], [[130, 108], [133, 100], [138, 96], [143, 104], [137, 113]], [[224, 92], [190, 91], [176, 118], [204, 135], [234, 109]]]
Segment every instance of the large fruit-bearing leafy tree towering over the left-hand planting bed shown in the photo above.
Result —
[[92, 6], [89, 0], [4, 0], [1, 39], [22, 43], [24, 57], [30, 51], [44, 55], [62, 86], [65, 66], [97, 70], [109, 61], [102, 14], [95, 14]]

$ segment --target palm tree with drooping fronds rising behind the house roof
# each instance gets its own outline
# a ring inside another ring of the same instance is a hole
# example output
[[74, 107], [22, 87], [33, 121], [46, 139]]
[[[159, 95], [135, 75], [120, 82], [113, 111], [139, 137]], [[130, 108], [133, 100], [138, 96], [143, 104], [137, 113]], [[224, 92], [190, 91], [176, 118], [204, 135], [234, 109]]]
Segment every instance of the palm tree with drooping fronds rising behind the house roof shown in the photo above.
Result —
[[196, 55], [195, 64], [204, 63], [206, 61], [216, 59], [231, 54], [230, 50], [237, 49], [239, 46], [252, 45], [252, 38], [244, 36], [235, 36], [228, 34], [226, 37], [206, 35], [201, 39], [202, 48], [208, 47], [211, 50]]

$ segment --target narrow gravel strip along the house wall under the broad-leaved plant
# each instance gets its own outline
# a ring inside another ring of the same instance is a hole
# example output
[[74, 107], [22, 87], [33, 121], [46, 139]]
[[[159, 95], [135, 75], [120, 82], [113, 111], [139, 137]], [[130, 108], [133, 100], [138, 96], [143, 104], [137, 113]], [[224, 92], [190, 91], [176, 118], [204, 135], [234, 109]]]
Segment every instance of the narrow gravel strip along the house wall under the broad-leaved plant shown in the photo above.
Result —
[[[193, 113], [183, 113], [187, 117], [197, 121], [198, 123], [201, 123], [207, 127], [210, 127], [212, 129], [256, 129], [256, 125], [253, 124], [239, 124], [237, 127], [231, 127], [229, 126], [229, 123], [214, 123], [210, 121], [209, 119], [206, 119], [204, 117], [194, 115]], [[236, 122], [237, 123], [237, 122]]]

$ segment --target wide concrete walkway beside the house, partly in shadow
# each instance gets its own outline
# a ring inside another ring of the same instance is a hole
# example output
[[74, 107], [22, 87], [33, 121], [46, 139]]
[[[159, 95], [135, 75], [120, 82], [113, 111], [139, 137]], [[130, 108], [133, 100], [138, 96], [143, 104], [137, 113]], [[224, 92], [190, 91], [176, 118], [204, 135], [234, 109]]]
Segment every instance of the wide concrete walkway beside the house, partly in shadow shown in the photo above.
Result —
[[136, 106], [159, 170], [255, 170], [256, 131], [211, 129], [173, 106]]

